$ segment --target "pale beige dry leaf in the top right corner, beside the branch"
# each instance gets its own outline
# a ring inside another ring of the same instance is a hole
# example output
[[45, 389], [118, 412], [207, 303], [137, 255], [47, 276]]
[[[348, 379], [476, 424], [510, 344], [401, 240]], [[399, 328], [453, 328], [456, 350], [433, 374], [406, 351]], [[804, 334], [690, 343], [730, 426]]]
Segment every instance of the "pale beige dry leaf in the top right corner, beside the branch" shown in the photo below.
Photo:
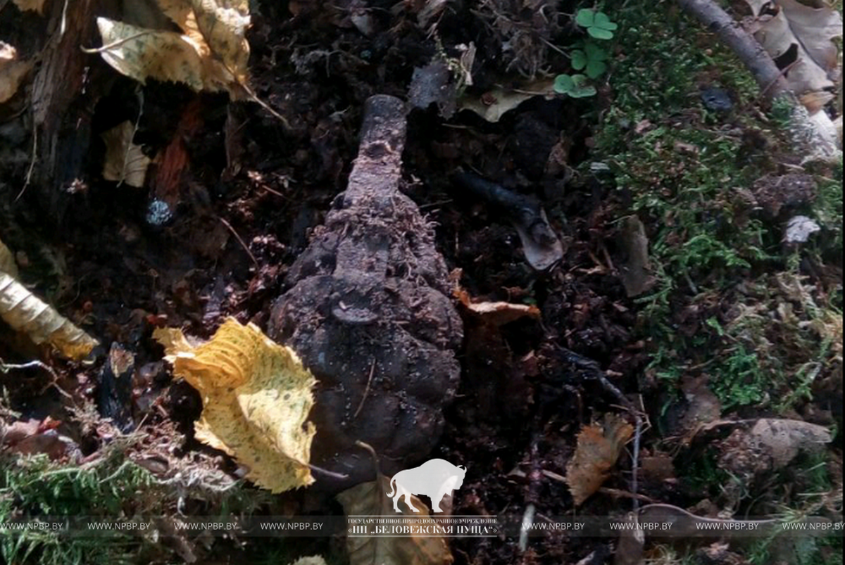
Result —
[[833, 8], [810, 8], [796, 0], [746, 0], [755, 17], [754, 36], [771, 58], [790, 49], [798, 58], [786, 79], [796, 95], [834, 86], [831, 74], [837, 68], [837, 46], [842, 36], [842, 16]]

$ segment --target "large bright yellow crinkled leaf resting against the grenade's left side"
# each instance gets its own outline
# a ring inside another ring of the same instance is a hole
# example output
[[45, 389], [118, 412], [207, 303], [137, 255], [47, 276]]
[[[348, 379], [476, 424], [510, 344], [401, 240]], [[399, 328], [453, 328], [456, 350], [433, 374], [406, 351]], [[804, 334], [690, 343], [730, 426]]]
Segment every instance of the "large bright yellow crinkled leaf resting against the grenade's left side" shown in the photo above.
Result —
[[313, 482], [308, 460], [316, 428], [309, 421], [316, 381], [296, 353], [254, 324], [226, 318], [194, 347], [180, 329], [156, 329], [173, 373], [199, 391], [199, 441], [232, 455], [247, 478], [272, 492]]

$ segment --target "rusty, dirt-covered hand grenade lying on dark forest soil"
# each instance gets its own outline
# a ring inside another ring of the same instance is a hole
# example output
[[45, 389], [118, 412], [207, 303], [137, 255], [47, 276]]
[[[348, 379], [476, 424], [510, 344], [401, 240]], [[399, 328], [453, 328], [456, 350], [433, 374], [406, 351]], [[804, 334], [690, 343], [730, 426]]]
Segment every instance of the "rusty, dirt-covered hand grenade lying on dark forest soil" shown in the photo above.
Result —
[[399, 192], [406, 108], [376, 95], [346, 193], [311, 237], [275, 302], [270, 336], [291, 345], [318, 379], [312, 463], [339, 490], [373, 479], [373, 446], [392, 475], [438, 442], [455, 394], [462, 325], [447, 297], [432, 226]]

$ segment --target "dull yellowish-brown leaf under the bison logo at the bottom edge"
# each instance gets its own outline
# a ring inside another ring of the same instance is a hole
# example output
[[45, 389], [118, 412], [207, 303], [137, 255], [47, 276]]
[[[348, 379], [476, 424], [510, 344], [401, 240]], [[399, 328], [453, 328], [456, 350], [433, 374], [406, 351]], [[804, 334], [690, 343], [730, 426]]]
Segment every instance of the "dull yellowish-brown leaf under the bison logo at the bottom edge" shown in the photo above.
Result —
[[[377, 481], [364, 482], [341, 492], [337, 500], [343, 505], [347, 516], [395, 516], [393, 500], [387, 496], [390, 481], [379, 475]], [[422, 508], [412, 513], [404, 501], [402, 514], [415, 519], [427, 518], [428, 508], [419, 498], [411, 496], [411, 503]], [[441, 535], [391, 536], [381, 535], [347, 536], [346, 552], [350, 565], [450, 565], [454, 561], [449, 544]]]

